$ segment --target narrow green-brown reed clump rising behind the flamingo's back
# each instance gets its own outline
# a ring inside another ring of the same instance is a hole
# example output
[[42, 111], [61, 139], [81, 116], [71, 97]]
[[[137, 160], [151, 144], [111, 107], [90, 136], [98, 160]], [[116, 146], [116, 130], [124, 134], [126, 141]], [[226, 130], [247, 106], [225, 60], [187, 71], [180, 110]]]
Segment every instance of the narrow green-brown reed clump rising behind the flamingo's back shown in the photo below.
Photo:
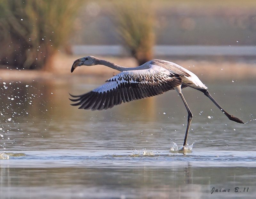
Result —
[[113, 13], [121, 42], [139, 65], [152, 59], [155, 13], [150, 1], [117, 1]]

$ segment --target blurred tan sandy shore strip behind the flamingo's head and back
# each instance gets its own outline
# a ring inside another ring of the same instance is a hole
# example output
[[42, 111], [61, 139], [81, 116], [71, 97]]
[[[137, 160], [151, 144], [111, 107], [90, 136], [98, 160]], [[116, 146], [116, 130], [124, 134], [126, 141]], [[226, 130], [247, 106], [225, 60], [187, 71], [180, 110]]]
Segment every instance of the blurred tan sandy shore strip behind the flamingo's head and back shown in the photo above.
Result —
[[[51, 71], [44, 70], [17, 70], [17, 69], [0, 69], [0, 82], [7, 80], [40, 80], [40, 79], [58, 79], [68, 80], [69, 78], [110, 78], [119, 73], [114, 69], [106, 66], [82, 66], [77, 68], [72, 74], [71, 66], [74, 60], [83, 57], [79, 55], [66, 55], [59, 53], [53, 59], [53, 67]], [[97, 56], [110, 62], [126, 67], [136, 67], [137, 62], [132, 57], [113, 57], [113, 56]], [[248, 58], [237, 57], [211, 57], [209, 59], [185, 58], [185, 57], [163, 57], [154, 58], [165, 59], [187, 68], [195, 73], [201, 80], [222, 80], [222, 79], [255, 79], [256, 64], [254, 60]]]

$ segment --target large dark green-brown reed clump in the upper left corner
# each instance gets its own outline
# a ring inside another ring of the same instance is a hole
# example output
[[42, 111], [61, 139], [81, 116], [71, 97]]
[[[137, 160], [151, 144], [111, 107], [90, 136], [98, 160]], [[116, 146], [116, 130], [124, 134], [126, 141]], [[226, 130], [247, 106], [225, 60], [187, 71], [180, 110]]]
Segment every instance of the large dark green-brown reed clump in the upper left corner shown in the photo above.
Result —
[[49, 70], [65, 45], [82, 0], [1, 0], [0, 64]]

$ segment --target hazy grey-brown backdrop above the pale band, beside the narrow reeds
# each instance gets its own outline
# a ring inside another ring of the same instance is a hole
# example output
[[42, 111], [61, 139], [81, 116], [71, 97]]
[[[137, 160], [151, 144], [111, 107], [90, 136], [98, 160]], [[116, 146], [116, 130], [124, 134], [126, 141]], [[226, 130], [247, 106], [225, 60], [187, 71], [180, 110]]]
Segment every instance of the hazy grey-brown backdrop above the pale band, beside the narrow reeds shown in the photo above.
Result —
[[[71, 33], [75, 45], [120, 44], [115, 1], [87, 1]], [[122, 1], [129, 4], [129, 1]], [[155, 13], [156, 45], [254, 45], [255, 1], [144, 1]], [[238, 41], [238, 42], [236, 42]]]

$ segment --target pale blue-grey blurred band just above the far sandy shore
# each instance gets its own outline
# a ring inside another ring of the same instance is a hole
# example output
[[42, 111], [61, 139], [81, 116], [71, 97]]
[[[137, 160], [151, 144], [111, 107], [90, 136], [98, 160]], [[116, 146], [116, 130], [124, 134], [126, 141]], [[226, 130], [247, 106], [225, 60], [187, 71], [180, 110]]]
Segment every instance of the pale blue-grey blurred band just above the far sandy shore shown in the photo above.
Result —
[[[129, 56], [122, 45], [73, 45], [74, 55]], [[154, 56], [256, 56], [255, 45], [155, 45]]]

